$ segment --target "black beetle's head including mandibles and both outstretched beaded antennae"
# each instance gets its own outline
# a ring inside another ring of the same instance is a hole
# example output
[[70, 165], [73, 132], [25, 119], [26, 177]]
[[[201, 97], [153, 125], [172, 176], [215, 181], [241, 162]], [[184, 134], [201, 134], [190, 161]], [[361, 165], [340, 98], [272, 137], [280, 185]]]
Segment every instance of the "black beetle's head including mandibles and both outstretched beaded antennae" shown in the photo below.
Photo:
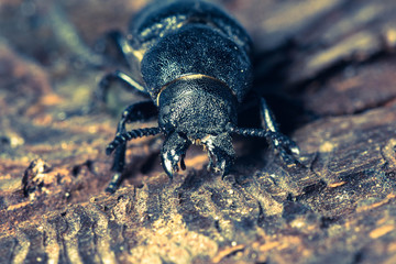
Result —
[[237, 99], [220, 80], [211, 77], [179, 78], [166, 85], [157, 95], [160, 108], [158, 127], [135, 129], [117, 134], [107, 146], [109, 155], [119, 146], [136, 138], [165, 134], [162, 163], [172, 178], [178, 164], [185, 168], [184, 156], [190, 144], [200, 144], [208, 150], [209, 168], [224, 176], [234, 160], [231, 134], [265, 138], [277, 148], [283, 160], [290, 165], [299, 164], [294, 157], [299, 154], [297, 144], [274, 128], [246, 129], [237, 124]]

